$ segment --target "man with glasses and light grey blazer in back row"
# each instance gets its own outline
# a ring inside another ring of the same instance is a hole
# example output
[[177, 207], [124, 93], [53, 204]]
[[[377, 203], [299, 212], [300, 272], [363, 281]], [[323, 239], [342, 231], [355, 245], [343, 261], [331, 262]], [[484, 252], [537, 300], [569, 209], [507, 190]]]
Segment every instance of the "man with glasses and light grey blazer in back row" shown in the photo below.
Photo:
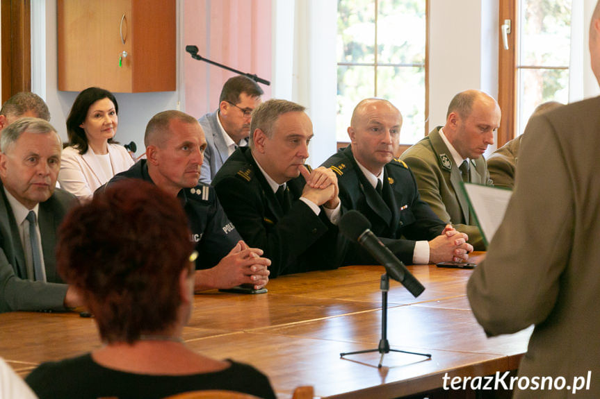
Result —
[[200, 181], [210, 184], [217, 171], [238, 146], [248, 144], [252, 110], [261, 103], [263, 90], [246, 76], [229, 78], [221, 90], [219, 108], [200, 118], [206, 151]]

